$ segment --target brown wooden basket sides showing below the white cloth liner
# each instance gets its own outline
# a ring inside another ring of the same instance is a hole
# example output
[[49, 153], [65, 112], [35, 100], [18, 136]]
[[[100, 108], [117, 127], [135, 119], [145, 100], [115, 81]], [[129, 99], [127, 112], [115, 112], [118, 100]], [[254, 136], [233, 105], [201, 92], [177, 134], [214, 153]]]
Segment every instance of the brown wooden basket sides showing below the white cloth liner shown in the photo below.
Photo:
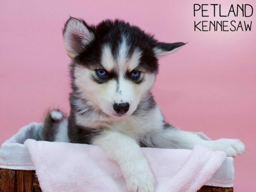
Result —
[[[0, 169], [0, 192], [41, 192], [35, 171]], [[233, 188], [203, 186], [198, 192], [233, 192]]]

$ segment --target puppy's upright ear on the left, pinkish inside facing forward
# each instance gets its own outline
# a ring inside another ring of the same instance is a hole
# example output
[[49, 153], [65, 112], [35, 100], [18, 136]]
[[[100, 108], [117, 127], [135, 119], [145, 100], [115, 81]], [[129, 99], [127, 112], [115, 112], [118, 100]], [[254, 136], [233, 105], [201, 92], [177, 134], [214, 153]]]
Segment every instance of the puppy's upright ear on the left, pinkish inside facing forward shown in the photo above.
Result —
[[93, 32], [84, 20], [70, 17], [63, 29], [63, 41], [70, 58], [75, 58], [94, 39]]

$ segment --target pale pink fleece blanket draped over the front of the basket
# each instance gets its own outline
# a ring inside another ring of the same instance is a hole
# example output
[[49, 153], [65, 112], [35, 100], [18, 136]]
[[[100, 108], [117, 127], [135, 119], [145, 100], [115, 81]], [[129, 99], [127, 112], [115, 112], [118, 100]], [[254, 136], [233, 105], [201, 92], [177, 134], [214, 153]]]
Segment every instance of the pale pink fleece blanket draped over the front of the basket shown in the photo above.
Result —
[[[26, 140], [43, 192], [125, 192], [119, 167], [96, 145]], [[221, 167], [226, 154], [203, 146], [193, 150], [141, 148], [157, 192], [195, 192]]]

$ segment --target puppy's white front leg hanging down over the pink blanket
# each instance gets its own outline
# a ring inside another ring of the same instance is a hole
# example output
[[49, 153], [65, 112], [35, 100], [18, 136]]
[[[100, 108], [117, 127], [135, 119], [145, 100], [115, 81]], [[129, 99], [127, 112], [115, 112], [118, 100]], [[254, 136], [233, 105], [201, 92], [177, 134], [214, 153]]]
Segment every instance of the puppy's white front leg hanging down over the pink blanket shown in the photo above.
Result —
[[154, 177], [137, 142], [116, 131], [104, 131], [93, 140], [120, 166], [132, 192], [154, 192]]

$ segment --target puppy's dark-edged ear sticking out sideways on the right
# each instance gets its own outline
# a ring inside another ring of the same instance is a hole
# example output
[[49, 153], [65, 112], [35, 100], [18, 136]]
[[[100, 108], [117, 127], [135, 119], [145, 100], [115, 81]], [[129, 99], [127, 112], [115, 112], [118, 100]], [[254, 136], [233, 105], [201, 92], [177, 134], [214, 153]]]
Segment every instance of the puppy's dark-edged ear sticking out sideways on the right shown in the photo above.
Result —
[[153, 51], [157, 58], [168, 55], [172, 52], [177, 51], [181, 46], [185, 45], [185, 43], [178, 42], [178, 43], [163, 43], [157, 42], [156, 46], [154, 47]]

